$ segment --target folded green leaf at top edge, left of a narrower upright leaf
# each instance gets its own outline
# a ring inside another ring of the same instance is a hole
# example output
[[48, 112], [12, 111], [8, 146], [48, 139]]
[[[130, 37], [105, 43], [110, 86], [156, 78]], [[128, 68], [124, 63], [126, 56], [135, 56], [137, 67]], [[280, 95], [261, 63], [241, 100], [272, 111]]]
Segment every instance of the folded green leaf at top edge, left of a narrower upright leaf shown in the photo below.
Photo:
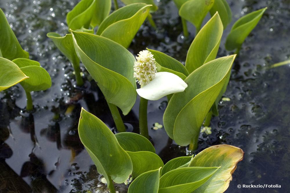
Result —
[[89, 28], [94, 12], [96, 12], [97, 0], [81, 0], [68, 14], [66, 15], [66, 23], [68, 29], [78, 30], [81, 27]]

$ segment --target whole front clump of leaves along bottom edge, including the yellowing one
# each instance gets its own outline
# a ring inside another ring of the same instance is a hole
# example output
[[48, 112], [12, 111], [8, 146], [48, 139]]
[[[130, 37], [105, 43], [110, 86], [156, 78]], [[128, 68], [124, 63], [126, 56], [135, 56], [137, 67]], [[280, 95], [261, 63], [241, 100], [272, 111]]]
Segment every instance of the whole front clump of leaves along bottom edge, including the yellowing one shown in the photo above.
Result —
[[129, 193], [224, 192], [244, 154], [240, 148], [217, 145], [195, 157], [178, 157], [164, 165], [148, 139], [128, 132], [114, 135], [84, 109], [78, 130], [81, 142], [98, 172], [105, 177], [110, 192], [115, 192], [113, 181], [124, 183], [130, 175], [135, 180], [129, 186]]

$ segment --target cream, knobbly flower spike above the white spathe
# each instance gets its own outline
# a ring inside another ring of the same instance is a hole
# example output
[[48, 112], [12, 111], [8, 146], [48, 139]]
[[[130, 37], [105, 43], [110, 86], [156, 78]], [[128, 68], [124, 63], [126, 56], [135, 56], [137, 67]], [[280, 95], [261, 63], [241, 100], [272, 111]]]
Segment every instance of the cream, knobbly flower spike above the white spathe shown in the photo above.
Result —
[[144, 86], [153, 80], [157, 73], [155, 58], [153, 58], [151, 52], [143, 50], [136, 56], [136, 60], [134, 63], [134, 77], [137, 78], [137, 82], [141, 86]]

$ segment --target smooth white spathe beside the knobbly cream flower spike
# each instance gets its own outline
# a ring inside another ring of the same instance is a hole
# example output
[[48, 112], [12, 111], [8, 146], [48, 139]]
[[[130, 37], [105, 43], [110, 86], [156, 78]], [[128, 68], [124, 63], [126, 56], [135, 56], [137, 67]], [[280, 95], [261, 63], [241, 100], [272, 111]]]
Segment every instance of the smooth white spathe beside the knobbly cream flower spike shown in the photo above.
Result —
[[183, 92], [186, 87], [187, 84], [179, 76], [170, 72], [157, 72], [153, 80], [136, 91], [147, 100], [159, 100], [166, 95]]

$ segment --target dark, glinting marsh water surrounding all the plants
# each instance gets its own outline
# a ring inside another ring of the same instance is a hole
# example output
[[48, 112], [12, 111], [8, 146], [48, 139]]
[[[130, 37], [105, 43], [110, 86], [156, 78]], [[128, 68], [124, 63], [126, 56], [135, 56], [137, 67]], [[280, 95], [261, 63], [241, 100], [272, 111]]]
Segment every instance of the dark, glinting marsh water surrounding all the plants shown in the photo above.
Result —
[[[231, 71], [220, 115], [211, 120], [212, 134], [201, 134], [200, 152], [216, 144], [242, 148], [226, 192], [289, 192], [290, 189], [290, 67], [269, 69], [290, 57], [290, 0], [227, 0], [233, 12], [224, 30], [218, 56], [224, 49], [233, 23], [249, 12], [268, 7], [260, 23], [244, 42]], [[0, 7], [30, 58], [41, 63], [52, 78], [52, 87], [32, 93], [35, 111], [25, 111], [24, 90], [16, 85], [0, 93], [0, 192], [106, 192], [93, 161], [77, 132], [81, 107], [115, 131], [104, 96], [83, 65], [85, 85], [77, 87], [73, 68], [46, 37], [48, 32], [65, 34], [66, 14], [78, 0], [1, 0]], [[120, 3], [120, 2], [119, 2]], [[184, 63], [195, 28], [184, 38], [177, 8], [171, 0], [156, 1], [153, 14], [157, 30], [146, 21], [129, 50], [136, 55], [146, 47], [162, 51]], [[122, 3], [120, 3], [122, 5]], [[208, 21], [209, 16], [204, 22]], [[128, 130], [138, 133], [137, 99], [123, 117]], [[148, 125], [162, 124], [167, 105], [164, 97], [148, 104]], [[150, 129], [156, 153], [164, 163], [185, 156], [164, 128]], [[118, 166], [115, 166], [118, 167]], [[281, 188], [237, 188], [237, 185], [278, 184]], [[116, 190], [126, 192], [124, 184]]]

